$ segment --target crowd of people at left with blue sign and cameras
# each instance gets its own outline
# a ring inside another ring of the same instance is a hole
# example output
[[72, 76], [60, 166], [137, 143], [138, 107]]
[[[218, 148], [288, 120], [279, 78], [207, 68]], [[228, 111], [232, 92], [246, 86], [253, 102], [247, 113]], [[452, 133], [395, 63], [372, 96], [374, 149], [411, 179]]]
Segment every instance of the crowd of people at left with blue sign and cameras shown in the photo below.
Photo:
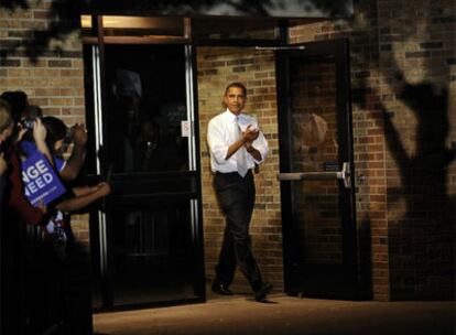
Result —
[[[84, 165], [86, 143], [83, 125], [68, 129], [61, 119], [45, 116], [39, 106], [30, 105], [25, 93], [6, 91], [0, 96], [1, 291], [6, 295], [2, 296], [1, 333], [41, 334], [52, 327], [69, 326], [65, 325], [65, 296], [54, 296], [56, 303], [48, 309], [53, 312], [46, 311], [48, 301], [42, 301], [43, 311], [29, 313], [36, 301], [28, 300], [23, 291], [36, 290], [37, 283], [44, 285], [43, 291], [46, 285], [59, 287], [59, 293], [65, 291], [65, 283], [58, 282], [58, 272], [72, 257], [74, 238], [69, 215], [110, 193], [105, 182], [96, 185], [72, 182]], [[65, 160], [69, 147], [72, 150]], [[52, 187], [46, 188], [46, 183]], [[61, 192], [53, 196], [58, 187]], [[43, 252], [24, 255], [24, 231], [33, 231]], [[32, 262], [46, 263], [47, 273], [24, 278], [31, 275], [20, 264], [30, 257]]]

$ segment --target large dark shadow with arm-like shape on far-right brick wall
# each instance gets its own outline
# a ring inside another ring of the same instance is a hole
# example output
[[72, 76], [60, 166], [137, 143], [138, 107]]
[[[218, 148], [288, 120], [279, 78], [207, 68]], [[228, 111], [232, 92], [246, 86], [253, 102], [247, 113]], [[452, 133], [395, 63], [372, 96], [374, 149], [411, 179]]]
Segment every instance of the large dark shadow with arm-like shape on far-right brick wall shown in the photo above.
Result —
[[454, 291], [456, 202], [447, 194], [448, 165], [455, 159], [455, 150], [446, 147], [448, 93], [436, 91], [430, 83], [404, 83], [398, 98], [417, 125], [415, 153], [408, 153], [392, 121], [394, 112], [381, 106], [387, 145], [402, 183], [388, 187], [388, 198], [403, 198], [406, 206], [404, 217], [389, 224], [391, 298], [452, 299], [447, 292]]

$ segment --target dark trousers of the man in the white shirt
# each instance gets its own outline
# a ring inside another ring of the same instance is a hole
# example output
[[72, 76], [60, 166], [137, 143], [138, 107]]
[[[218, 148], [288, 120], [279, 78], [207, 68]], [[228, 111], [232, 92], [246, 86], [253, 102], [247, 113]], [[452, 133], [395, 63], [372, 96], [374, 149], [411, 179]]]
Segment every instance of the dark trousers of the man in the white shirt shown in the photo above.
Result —
[[217, 279], [229, 285], [238, 266], [257, 291], [261, 287], [261, 274], [252, 256], [249, 235], [256, 195], [253, 174], [249, 171], [241, 177], [237, 172], [217, 173], [214, 187], [226, 216], [224, 242], [216, 267]]

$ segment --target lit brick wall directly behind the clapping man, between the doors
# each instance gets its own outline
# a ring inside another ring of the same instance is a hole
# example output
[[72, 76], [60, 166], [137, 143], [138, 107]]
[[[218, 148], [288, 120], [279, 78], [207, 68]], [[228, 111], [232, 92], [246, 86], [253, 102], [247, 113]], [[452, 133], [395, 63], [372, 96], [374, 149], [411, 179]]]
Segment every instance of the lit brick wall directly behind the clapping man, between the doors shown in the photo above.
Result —
[[[207, 123], [224, 109], [222, 96], [228, 83], [242, 82], [248, 88], [247, 114], [254, 115], [268, 139], [270, 152], [256, 175], [257, 203], [251, 221], [253, 255], [262, 275], [276, 290], [283, 290], [282, 228], [279, 171], [279, 143], [274, 58], [271, 52], [251, 48], [199, 47], [198, 109], [202, 152], [204, 248], [206, 278], [214, 278], [225, 221], [216, 202], [206, 145]], [[236, 274], [235, 290], [249, 292], [247, 280]]]

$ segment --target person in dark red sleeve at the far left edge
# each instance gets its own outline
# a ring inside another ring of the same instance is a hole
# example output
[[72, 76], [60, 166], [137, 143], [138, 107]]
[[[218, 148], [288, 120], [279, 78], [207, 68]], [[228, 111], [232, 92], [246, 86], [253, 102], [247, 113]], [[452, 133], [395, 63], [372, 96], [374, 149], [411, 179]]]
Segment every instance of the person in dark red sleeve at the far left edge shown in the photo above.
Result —
[[[21, 166], [18, 152], [8, 141], [13, 133], [14, 120], [10, 105], [0, 99], [0, 148], [1, 148], [1, 289], [2, 289], [2, 334], [21, 334], [21, 301], [23, 271], [23, 239], [20, 221], [40, 225], [46, 207], [32, 206], [23, 192]], [[34, 126], [33, 134], [39, 147], [43, 147], [45, 129], [42, 123]], [[47, 152], [48, 153], [48, 152]], [[6, 213], [7, 212], [7, 213]]]

